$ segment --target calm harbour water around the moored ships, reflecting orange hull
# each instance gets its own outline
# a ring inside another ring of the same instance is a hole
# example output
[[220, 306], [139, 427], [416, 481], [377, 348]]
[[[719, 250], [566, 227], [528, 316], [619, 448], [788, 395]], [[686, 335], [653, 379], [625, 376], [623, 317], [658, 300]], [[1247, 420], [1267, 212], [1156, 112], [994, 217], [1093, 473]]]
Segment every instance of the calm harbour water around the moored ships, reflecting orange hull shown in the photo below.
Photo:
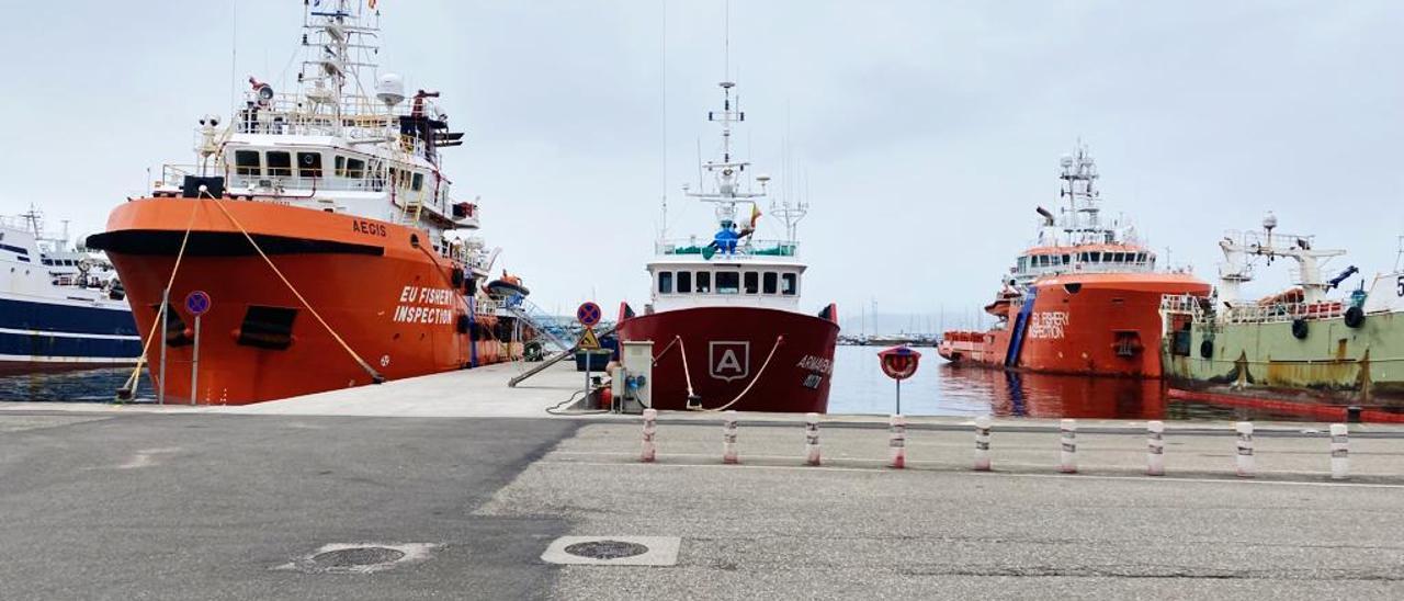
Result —
[[[878, 365], [879, 350], [837, 348], [830, 413], [889, 414], [897, 409], [893, 381]], [[1158, 381], [956, 368], [936, 357], [935, 348], [918, 351], [921, 368], [901, 385], [901, 410], [908, 416], [1311, 421], [1290, 413], [1170, 399]], [[129, 375], [129, 368], [8, 375], [0, 378], [0, 400], [110, 402]], [[145, 374], [136, 400], [154, 400]]]

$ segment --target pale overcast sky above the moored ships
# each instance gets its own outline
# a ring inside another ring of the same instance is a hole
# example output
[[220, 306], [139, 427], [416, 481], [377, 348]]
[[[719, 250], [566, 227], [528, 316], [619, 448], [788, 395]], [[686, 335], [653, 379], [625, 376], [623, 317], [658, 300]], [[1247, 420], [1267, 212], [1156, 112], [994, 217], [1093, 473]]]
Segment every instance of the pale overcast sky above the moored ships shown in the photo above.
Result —
[[[696, 180], [698, 139], [703, 153], [716, 142], [722, 0], [379, 4], [382, 70], [444, 93], [468, 131], [446, 173], [459, 197], [482, 195], [482, 233], [536, 302], [642, 305], [663, 194], [674, 235], [710, 233], [710, 211], [680, 188]], [[232, 74], [296, 73], [296, 0], [6, 13], [0, 212], [34, 202], [74, 232], [100, 230], [147, 167], [191, 163], [192, 128], [229, 112]], [[741, 154], [813, 205], [806, 310], [838, 302], [851, 317], [876, 299], [885, 313], [970, 313], [1035, 235], [1033, 208], [1057, 204], [1059, 157], [1078, 138], [1106, 213], [1206, 278], [1219, 236], [1268, 209], [1280, 230], [1351, 251], [1332, 267], [1394, 265], [1404, 3], [734, 0], [730, 13]], [[775, 226], [762, 218], [761, 236]]]

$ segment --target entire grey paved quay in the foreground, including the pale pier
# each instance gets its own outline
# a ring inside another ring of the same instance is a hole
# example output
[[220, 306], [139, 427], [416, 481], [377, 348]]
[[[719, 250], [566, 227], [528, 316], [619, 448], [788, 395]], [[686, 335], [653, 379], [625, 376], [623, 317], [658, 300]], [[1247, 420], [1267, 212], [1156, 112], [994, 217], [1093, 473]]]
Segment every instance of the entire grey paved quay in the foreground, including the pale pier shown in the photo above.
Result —
[[[994, 470], [972, 472], [951, 417], [908, 420], [901, 470], [886, 416], [826, 416], [806, 466], [802, 416], [740, 416], [723, 465], [722, 416], [664, 414], [640, 463], [639, 417], [545, 413], [583, 376], [486, 379], [512, 374], [250, 407], [0, 404], [3, 597], [1404, 597], [1397, 425], [1352, 425], [1345, 482], [1327, 424], [1258, 424], [1251, 479], [1227, 423], [1168, 423], [1160, 477], [1132, 421], [1081, 421], [1075, 475], [1047, 420], [997, 421]], [[566, 536], [670, 552], [543, 559]], [[341, 546], [404, 559], [319, 559]]]

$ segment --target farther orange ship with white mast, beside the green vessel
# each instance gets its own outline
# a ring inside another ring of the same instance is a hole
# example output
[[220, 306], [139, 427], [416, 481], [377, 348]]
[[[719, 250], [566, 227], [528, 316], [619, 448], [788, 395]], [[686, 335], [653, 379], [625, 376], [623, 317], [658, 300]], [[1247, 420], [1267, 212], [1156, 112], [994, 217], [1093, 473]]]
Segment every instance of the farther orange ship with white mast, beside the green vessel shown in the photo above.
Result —
[[1134, 227], [1104, 223], [1087, 147], [1061, 167], [1067, 206], [1038, 208], [1038, 242], [984, 308], [994, 327], [946, 331], [938, 351], [958, 365], [1160, 378], [1161, 298], [1210, 286], [1186, 270], [1158, 270]]

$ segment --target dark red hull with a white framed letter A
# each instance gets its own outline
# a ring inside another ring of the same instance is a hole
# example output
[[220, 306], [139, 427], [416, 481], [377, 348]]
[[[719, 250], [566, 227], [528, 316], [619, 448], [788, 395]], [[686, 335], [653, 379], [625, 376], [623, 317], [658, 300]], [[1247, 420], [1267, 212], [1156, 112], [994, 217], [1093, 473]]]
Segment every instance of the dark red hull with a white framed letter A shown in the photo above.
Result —
[[828, 410], [838, 341], [834, 322], [776, 309], [678, 309], [625, 319], [619, 323], [619, 338], [653, 341], [654, 409], [687, 409], [691, 375], [694, 393], [702, 397], [705, 409], [720, 409], [740, 397], [726, 409]]

